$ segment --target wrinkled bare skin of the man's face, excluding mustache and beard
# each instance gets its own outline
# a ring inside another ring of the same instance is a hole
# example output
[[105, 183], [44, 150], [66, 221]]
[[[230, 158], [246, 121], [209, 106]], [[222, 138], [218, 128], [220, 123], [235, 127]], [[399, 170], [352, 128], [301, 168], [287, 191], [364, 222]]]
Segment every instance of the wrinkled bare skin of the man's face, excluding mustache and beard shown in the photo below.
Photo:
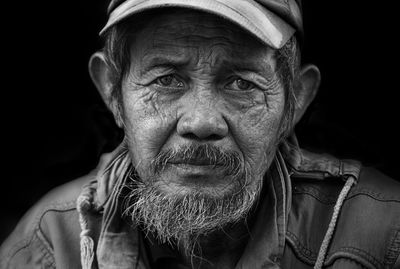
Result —
[[[136, 36], [122, 84], [122, 115], [133, 162], [154, 180], [162, 150], [208, 143], [238, 152], [259, 184], [272, 162], [284, 114], [274, 51], [212, 15], [161, 16]], [[170, 164], [160, 190], [227, 195], [230, 178], [201, 164]]]

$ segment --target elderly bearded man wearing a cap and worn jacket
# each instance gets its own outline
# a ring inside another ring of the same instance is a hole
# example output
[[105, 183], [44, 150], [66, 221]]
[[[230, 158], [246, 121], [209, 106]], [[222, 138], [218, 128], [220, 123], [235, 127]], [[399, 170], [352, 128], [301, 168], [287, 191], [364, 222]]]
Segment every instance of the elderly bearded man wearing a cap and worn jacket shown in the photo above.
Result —
[[46, 195], [1, 268], [399, 268], [400, 186], [301, 150], [300, 1], [114, 0], [90, 60], [125, 138]]

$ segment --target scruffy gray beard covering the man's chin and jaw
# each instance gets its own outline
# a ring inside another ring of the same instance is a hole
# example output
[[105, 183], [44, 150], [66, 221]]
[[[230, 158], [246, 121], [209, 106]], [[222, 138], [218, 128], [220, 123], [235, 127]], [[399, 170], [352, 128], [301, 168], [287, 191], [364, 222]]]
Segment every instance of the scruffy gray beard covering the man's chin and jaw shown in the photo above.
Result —
[[258, 200], [262, 185], [261, 179], [253, 179], [243, 171], [232, 178], [232, 191], [218, 197], [197, 188], [184, 195], [168, 194], [160, 191], [154, 181], [131, 179], [124, 214], [160, 243], [183, 248], [188, 257], [201, 252], [200, 237], [243, 221]]

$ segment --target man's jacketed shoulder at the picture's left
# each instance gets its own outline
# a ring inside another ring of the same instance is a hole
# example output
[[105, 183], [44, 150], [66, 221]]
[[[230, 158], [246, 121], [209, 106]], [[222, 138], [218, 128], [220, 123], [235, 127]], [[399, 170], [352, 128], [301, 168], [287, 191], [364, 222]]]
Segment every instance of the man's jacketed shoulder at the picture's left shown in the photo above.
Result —
[[55, 247], [66, 246], [75, 240], [79, 245], [76, 199], [91, 179], [93, 176], [88, 175], [73, 180], [40, 199], [1, 245], [0, 268], [32, 267], [33, 263], [55, 268]]

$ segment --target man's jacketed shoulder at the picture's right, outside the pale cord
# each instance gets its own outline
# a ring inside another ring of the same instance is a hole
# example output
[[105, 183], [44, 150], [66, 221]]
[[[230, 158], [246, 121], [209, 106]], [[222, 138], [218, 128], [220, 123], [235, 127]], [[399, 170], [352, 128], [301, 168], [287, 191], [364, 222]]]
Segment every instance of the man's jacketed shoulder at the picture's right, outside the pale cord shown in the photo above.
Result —
[[393, 268], [400, 253], [400, 183], [363, 168], [343, 204], [336, 233], [331, 259], [345, 252], [376, 268]]

